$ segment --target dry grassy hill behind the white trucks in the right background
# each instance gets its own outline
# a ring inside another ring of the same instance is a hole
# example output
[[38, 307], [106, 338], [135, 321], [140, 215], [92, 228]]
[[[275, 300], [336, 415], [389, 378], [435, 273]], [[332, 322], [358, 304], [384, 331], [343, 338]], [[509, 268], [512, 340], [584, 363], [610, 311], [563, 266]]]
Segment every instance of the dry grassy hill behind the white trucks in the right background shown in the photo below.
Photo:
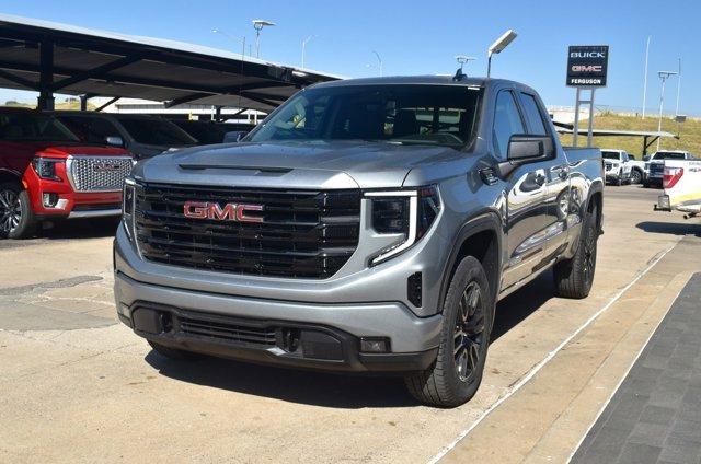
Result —
[[[587, 120], [579, 121], [579, 127], [586, 129]], [[642, 119], [640, 116], [623, 116], [614, 113], [600, 113], [594, 116], [595, 129], [611, 130], [657, 130], [657, 117], [655, 115], [647, 116]], [[663, 138], [660, 149], [665, 150], [686, 150], [701, 155], [701, 120], [688, 119], [686, 123], [676, 123], [674, 119], [663, 118], [662, 130], [679, 135], [680, 138]], [[564, 146], [572, 144], [572, 136], [561, 135], [560, 140]], [[586, 143], [586, 135], [579, 135], [579, 146]], [[594, 146], [599, 148], [610, 148], [625, 150], [627, 152], [640, 156], [643, 152], [642, 137], [594, 137]], [[657, 143], [653, 143], [648, 149], [648, 153], [654, 153]], [[640, 160], [640, 158], [637, 158]]]

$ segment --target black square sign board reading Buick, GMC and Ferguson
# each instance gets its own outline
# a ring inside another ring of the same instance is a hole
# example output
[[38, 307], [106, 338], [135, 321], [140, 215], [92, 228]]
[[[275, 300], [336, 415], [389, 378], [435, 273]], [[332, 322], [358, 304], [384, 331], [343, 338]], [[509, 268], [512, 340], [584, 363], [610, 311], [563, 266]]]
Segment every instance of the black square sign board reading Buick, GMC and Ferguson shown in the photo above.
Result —
[[572, 45], [567, 54], [567, 85], [606, 86], [609, 65], [608, 45]]

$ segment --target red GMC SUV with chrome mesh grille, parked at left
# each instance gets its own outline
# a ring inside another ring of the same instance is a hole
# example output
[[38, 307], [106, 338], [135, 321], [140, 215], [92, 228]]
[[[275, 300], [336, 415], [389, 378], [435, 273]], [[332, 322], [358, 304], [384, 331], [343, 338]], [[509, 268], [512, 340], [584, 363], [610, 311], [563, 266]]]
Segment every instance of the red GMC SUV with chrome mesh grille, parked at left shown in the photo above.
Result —
[[129, 153], [80, 142], [50, 114], [0, 108], [0, 236], [24, 239], [44, 220], [122, 213]]

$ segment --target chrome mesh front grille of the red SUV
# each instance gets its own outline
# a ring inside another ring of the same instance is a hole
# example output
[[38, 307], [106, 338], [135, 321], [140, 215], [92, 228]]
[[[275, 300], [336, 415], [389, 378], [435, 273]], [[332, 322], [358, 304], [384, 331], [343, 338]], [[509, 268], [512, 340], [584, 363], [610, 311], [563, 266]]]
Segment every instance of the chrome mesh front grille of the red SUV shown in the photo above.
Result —
[[70, 156], [68, 178], [76, 192], [118, 192], [131, 171], [129, 156]]

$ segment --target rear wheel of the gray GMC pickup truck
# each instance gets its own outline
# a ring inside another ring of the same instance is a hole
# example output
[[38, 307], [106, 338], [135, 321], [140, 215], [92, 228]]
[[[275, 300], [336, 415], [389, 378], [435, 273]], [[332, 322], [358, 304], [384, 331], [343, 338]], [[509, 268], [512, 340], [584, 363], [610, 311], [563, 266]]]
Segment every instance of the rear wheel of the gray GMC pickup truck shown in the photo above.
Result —
[[594, 205], [584, 219], [579, 246], [574, 257], [555, 265], [553, 275], [559, 297], [583, 299], [588, 297], [591, 290], [599, 240], [597, 214], [598, 209]]

